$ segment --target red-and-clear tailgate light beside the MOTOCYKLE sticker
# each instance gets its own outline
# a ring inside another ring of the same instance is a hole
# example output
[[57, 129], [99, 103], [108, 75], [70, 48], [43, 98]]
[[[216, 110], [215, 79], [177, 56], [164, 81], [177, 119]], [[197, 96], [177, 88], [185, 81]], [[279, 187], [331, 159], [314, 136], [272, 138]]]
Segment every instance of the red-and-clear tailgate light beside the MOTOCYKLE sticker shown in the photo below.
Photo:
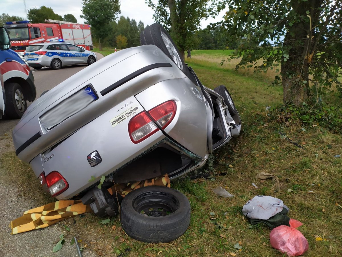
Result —
[[128, 123], [128, 133], [134, 144], [140, 143], [158, 130], [158, 127], [148, 117], [146, 111], [135, 115]]

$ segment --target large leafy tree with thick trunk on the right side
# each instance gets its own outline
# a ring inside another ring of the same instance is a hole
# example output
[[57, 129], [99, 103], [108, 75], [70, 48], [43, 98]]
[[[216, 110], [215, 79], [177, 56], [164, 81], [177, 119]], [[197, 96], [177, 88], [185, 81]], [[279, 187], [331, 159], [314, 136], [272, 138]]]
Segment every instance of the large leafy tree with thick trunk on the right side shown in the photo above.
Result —
[[284, 103], [318, 100], [332, 84], [342, 90], [337, 80], [342, 75], [341, 0], [226, 3], [222, 23], [229, 40], [240, 43], [238, 67], [265, 71], [280, 63]]

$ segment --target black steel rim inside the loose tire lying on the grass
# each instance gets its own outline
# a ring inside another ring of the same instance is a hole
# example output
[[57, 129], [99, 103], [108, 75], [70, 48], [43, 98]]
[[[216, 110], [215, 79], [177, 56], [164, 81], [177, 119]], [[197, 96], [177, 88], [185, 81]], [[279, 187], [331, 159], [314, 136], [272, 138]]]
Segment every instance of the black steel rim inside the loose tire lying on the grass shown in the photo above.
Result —
[[146, 192], [134, 198], [133, 208], [141, 215], [164, 217], [171, 215], [179, 208], [179, 201], [171, 194], [164, 192]]

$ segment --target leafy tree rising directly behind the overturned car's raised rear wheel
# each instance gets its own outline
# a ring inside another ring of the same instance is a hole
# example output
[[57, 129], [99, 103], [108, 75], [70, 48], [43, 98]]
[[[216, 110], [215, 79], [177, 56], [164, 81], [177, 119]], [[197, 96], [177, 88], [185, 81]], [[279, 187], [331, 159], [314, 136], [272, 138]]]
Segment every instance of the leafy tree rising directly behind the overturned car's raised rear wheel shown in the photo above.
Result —
[[155, 11], [156, 22], [170, 29], [170, 35], [184, 59], [184, 51], [194, 46], [194, 33], [200, 22], [216, 14], [216, 0], [146, 0]]

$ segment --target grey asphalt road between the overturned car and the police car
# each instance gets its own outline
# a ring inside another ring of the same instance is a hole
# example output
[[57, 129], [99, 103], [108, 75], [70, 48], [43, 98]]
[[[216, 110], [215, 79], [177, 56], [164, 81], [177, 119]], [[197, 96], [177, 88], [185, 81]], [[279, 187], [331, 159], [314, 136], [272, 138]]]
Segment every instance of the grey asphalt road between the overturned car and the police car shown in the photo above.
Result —
[[[103, 58], [102, 54], [96, 53], [97, 60]], [[40, 70], [35, 70], [31, 68], [33, 75], [35, 77], [35, 85], [37, 90], [36, 99], [43, 93], [45, 90], [49, 90], [61, 82], [65, 81], [68, 77], [71, 77], [75, 73], [80, 70], [86, 68], [88, 65], [76, 65], [76, 66], [66, 66], [62, 67], [60, 70], [52, 70], [51, 68], [42, 68]], [[30, 102], [27, 102], [27, 105], [30, 105]], [[19, 120], [0, 120], [0, 136], [9, 130], [13, 129], [13, 127], [18, 123]]]

